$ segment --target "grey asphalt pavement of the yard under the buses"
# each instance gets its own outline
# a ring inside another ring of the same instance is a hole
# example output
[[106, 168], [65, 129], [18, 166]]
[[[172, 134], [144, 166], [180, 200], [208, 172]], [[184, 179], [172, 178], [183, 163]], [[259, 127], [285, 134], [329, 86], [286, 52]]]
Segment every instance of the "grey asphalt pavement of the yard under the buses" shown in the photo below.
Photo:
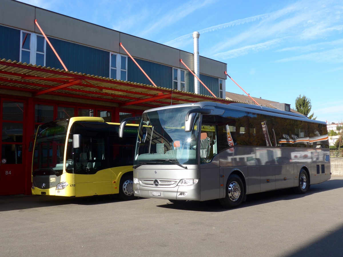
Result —
[[343, 256], [343, 177], [229, 210], [217, 200], [1, 196], [0, 256]]

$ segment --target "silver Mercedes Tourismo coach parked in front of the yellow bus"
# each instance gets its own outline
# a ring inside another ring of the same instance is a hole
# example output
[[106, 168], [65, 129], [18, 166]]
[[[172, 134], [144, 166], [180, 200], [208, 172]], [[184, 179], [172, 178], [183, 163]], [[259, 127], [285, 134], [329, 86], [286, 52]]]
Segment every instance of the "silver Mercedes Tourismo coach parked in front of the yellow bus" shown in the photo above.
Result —
[[135, 196], [172, 203], [294, 187], [300, 194], [331, 178], [325, 122], [241, 103], [199, 102], [144, 111], [133, 161]]

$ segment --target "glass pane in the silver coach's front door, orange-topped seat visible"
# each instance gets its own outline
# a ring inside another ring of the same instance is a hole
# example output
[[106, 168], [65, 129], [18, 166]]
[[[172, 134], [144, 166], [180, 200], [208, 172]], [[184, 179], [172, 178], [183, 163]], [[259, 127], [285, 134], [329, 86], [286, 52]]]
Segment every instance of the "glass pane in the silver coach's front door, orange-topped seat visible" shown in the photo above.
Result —
[[218, 154], [216, 116], [203, 115], [200, 133], [200, 162], [208, 163]]

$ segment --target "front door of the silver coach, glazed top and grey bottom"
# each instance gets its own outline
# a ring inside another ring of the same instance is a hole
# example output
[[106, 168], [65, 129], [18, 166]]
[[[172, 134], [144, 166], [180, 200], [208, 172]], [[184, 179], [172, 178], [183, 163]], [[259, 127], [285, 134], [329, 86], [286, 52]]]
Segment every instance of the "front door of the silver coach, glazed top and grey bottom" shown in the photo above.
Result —
[[[204, 115], [203, 121], [213, 119], [214, 116]], [[214, 122], [212, 124], [203, 123], [200, 133], [200, 200], [209, 200], [220, 197], [220, 172], [219, 159], [215, 158], [218, 153], [217, 133]], [[218, 157], [218, 156], [217, 156]]]

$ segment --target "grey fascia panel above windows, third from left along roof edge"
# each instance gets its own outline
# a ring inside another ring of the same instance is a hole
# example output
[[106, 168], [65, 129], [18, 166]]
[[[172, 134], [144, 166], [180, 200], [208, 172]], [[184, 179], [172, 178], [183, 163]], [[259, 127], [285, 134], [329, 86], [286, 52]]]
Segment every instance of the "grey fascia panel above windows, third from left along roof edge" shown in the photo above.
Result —
[[[122, 42], [123, 46], [132, 57], [150, 60], [173, 67], [179, 67], [180, 65], [180, 50], [178, 49], [124, 33], [120, 33], [120, 42]], [[122, 48], [120, 48], [120, 53], [126, 54]]]

